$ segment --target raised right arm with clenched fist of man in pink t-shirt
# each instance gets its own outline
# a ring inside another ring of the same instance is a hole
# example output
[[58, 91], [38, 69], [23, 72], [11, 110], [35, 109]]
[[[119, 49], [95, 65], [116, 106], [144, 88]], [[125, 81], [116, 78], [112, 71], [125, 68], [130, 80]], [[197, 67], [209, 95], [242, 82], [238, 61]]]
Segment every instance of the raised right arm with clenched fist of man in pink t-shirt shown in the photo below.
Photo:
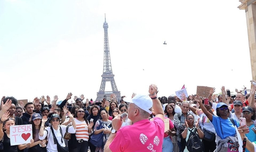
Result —
[[159, 117], [164, 121], [165, 113], [163, 111], [163, 107], [162, 107], [161, 102], [157, 98], [157, 92], [158, 92], [157, 91], [157, 86], [151, 84], [149, 86], [148, 92], [149, 92], [150, 98], [152, 98], [152, 100], [153, 100], [153, 109], [154, 109], [154, 112], [155, 112], [155, 117]]

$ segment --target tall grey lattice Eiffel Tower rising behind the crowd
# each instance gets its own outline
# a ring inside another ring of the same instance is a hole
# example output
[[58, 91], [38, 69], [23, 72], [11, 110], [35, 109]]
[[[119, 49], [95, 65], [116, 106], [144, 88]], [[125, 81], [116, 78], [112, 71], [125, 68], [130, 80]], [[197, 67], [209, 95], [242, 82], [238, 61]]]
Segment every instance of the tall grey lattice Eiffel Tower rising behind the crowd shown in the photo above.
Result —
[[[117, 90], [116, 82], [114, 79], [114, 74], [112, 72], [110, 54], [109, 54], [109, 44], [108, 44], [108, 23], [106, 22], [106, 14], [105, 14], [105, 22], [103, 23], [104, 28], [104, 65], [103, 65], [103, 74], [101, 75], [101, 86], [99, 92], [97, 92], [97, 98], [95, 101], [101, 101], [104, 98], [104, 95], [107, 96], [107, 100], [110, 99], [110, 95], [112, 93], [116, 94], [116, 101], [121, 99], [120, 91]], [[106, 81], [110, 81], [112, 91], [105, 91]]]

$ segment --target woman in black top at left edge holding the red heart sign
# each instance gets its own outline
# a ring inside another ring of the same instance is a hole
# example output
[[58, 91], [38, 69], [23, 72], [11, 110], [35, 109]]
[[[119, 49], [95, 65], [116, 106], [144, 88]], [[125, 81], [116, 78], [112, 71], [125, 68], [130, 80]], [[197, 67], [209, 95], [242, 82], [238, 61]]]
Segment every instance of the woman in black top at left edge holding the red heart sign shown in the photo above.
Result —
[[17, 152], [18, 148], [19, 150], [25, 149], [27, 147], [29, 147], [32, 143], [34, 143], [34, 140], [31, 139], [30, 143], [26, 143], [26, 144], [21, 144], [21, 145], [13, 145], [11, 146], [11, 142], [10, 142], [10, 126], [14, 126], [14, 119], [9, 118], [9, 112], [6, 111], [4, 113], [4, 115], [2, 116], [2, 118], [0, 119], [0, 128], [3, 127], [6, 129], [5, 132], [3, 132], [2, 129], [0, 129], [0, 140], [3, 143], [3, 150], [0, 150], [1, 152], [4, 151], [8, 151], [8, 152]]

